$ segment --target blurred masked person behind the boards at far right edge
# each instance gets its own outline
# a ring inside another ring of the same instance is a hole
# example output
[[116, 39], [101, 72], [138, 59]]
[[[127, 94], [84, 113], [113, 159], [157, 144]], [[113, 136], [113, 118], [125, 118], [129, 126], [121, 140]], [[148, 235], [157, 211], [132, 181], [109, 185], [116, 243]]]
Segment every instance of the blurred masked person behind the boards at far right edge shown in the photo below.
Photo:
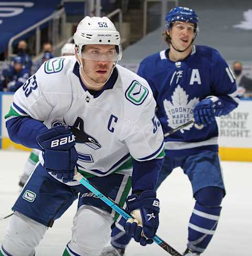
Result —
[[239, 86], [240, 96], [252, 96], [252, 79], [243, 73], [243, 65], [239, 61], [233, 63], [233, 70], [235, 73], [236, 84]]

